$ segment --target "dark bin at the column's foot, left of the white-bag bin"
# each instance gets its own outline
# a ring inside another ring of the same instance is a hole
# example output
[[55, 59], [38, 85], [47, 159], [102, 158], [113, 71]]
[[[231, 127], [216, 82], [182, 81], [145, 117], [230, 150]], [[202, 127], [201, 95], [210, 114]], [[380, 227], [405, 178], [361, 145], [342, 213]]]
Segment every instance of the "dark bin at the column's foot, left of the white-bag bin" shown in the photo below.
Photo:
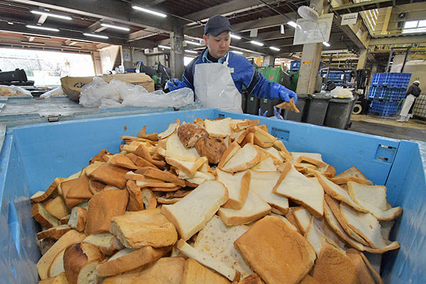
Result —
[[330, 97], [324, 94], [308, 94], [308, 97], [309, 101], [303, 122], [323, 125]]

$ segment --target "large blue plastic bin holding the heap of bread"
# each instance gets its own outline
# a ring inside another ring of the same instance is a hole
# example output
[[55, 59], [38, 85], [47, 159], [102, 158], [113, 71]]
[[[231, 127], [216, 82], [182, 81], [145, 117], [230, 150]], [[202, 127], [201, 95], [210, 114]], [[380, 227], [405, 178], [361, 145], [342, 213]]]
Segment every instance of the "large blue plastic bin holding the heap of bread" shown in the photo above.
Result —
[[164, 131], [180, 121], [260, 119], [289, 151], [322, 153], [337, 173], [356, 166], [376, 185], [386, 185], [388, 201], [403, 207], [391, 239], [398, 251], [386, 254], [382, 265], [385, 283], [426, 283], [426, 182], [422, 145], [364, 133], [329, 129], [295, 121], [234, 114], [217, 109], [80, 119], [50, 124], [16, 126], [6, 132], [0, 173], [0, 283], [35, 284], [35, 222], [29, 197], [45, 190], [57, 177], [67, 177], [88, 165], [102, 148], [117, 153], [124, 135]]

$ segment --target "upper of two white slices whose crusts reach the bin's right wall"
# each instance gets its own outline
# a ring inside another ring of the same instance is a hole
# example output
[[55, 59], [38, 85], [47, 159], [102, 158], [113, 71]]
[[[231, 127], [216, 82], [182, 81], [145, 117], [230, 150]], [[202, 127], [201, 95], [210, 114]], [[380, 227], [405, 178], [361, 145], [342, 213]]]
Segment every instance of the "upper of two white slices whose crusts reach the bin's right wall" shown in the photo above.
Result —
[[379, 221], [390, 221], [403, 214], [401, 207], [388, 209], [385, 186], [348, 182], [348, 191], [357, 204], [368, 210]]

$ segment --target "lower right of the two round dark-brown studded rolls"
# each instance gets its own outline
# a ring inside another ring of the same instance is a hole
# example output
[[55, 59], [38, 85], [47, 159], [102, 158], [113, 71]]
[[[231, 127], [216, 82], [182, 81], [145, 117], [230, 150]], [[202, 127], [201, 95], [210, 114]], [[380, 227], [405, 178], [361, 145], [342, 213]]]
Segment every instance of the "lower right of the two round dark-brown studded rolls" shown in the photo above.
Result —
[[224, 139], [203, 137], [195, 143], [195, 148], [201, 156], [207, 157], [209, 163], [217, 165], [226, 151]]

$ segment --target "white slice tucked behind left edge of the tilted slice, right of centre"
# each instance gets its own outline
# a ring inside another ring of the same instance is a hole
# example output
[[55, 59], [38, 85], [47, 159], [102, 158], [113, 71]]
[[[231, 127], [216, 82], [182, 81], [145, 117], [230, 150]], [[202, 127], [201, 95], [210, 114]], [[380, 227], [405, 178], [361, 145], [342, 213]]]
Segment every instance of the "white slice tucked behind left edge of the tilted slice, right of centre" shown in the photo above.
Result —
[[266, 173], [257, 172], [255, 170], [249, 171], [251, 173], [250, 190], [253, 190], [258, 197], [261, 197], [261, 199], [271, 207], [278, 209], [283, 214], [287, 213], [288, 198], [272, 192], [281, 173], [277, 171]]

